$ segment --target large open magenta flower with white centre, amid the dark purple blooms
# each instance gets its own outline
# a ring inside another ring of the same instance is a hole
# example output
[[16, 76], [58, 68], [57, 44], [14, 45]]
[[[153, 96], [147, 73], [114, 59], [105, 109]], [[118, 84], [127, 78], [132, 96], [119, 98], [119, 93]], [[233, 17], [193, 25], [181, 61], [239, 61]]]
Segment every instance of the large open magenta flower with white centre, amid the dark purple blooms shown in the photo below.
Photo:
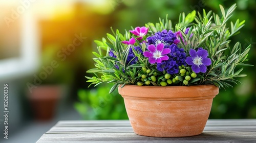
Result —
[[148, 58], [148, 61], [151, 64], [161, 63], [164, 60], [168, 60], [169, 57], [166, 54], [170, 53], [170, 49], [164, 49], [164, 44], [159, 43], [157, 47], [154, 44], [148, 45], [147, 49], [149, 51], [145, 51], [143, 55]]

